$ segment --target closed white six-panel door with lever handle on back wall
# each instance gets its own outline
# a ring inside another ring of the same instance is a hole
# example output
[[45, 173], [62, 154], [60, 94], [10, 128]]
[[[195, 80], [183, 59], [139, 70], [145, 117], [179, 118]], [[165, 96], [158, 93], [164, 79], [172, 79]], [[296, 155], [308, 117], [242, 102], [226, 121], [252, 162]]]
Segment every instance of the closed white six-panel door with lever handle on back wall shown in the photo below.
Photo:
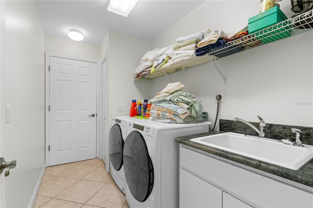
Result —
[[96, 157], [96, 63], [50, 57], [50, 166]]

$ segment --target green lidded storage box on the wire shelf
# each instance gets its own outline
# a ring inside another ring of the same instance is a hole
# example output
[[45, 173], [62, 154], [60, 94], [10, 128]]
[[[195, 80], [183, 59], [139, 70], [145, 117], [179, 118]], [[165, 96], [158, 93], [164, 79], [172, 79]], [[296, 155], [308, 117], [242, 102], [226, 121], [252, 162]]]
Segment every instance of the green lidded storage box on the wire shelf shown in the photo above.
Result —
[[[268, 11], [262, 12], [248, 19], [249, 34], [267, 28], [271, 25], [277, 24], [281, 21], [285, 21], [287, 19], [288, 18], [286, 17], [286, 15], [277, 6], [275, 6]], [[285, 25], [284, 27], [279, 29], [277, 29], [277, 27], [274, 27], [273, 32], [267, 33], [268, 31], [265, 31], [267, 34], [264, 36], [258, 36], [257, 39], [259, 39], [263, 43], [284, 39], [291, 36], [291, 33], [288, 31], [289, 29], [290, 27]], [[260, 35], [265, 32], [260, 32]]]

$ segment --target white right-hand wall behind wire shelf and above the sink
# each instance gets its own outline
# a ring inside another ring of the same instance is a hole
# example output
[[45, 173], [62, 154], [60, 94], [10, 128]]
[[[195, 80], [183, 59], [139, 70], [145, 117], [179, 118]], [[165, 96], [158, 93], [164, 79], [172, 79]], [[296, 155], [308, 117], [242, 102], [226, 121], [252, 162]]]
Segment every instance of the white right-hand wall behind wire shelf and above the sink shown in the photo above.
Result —
[[[279, 2], [290, 17], [289, 0]], [[232, 33], [256, 15], [259, 1], [205, 1], [153, 41], [164, 47], [176, 38], [211, 28]], [[258, 122], [313, 126], [313, 33], [275, 42], [216, 61], [227, 79], [213, 63], [204, 63], [169, 75], [174, 82], [185, 84], [184, 91], [202, 101], [213, 123], [216, 114], [215, 92], [225, 92], [221, 119], [243, 118]], [[152, 47], [152, 48], [154, 48]], [[151, 81], [151, 95], [169, 83], [166, 77]], [[301, 104], [302, 103], [302, 104]]]

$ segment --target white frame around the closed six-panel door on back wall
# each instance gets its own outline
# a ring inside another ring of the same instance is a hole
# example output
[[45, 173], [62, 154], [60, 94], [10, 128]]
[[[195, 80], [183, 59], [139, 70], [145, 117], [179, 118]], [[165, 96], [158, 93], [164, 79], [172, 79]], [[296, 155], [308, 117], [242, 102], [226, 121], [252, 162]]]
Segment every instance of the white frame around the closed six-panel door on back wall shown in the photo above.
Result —
[[[75, 61], [82, 61], [82, 62], [91, 62], [96, 63], [96, 115], [102, 113], [100, 111], [100, 62], [98, 60], [91, 60], [91, 59], [81, 59], [76, 57], [64, 56], [60, 54], [54, 54], [45, 52], [45, 166], [50, 166], [50, 154], [49, 154], [49, 145], [50, 145], [50, 111], [49, 111], [49, 104], [50, 104], [50, 73], [49, 73], [49, 65], [50, 65], [50, 57], [56, 58], [63, 58], [63, 59], [70, 59]], [[101, 114], [100, 114], [101, 115]], [[99, 157], [99, 153], [102, 151], [100, 146], [100, 116], [97, 116], [96, 119], [96, 157]]]

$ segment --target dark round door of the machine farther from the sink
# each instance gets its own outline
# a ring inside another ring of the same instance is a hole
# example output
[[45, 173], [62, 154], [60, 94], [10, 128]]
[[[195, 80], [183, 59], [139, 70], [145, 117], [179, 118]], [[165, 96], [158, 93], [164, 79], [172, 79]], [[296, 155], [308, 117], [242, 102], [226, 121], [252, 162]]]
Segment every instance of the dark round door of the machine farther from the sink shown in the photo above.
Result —
[[123, 165], [124, 140], [121, 127], [114, 124], [109, 134], [109, 154], [112, 166], [115, 170], [121, 169]]

